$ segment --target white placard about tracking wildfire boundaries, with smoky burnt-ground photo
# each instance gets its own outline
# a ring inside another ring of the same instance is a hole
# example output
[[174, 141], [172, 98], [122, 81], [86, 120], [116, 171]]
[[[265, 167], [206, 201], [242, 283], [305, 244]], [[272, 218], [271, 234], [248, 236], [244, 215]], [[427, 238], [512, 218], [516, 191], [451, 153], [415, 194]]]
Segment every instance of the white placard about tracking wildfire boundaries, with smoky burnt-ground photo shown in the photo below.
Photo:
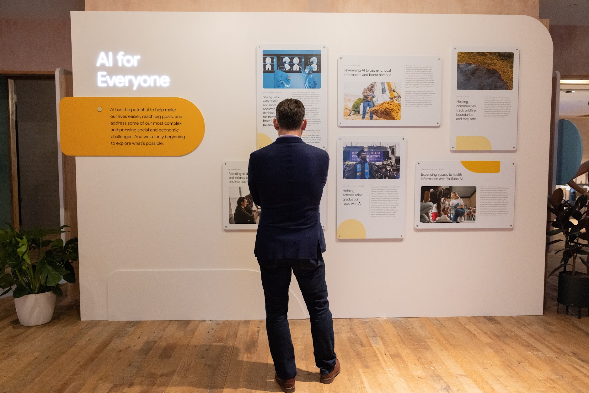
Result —
[[515, 150], [519, 48], [452, 47], [451, 150]]

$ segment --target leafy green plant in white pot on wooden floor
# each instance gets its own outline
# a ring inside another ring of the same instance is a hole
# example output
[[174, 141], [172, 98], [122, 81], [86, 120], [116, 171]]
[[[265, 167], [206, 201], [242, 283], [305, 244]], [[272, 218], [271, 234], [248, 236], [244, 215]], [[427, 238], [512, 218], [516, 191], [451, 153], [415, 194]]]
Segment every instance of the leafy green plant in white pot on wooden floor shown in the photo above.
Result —
[[0, 288], [14, 296], [16, 315], [21, 325], [34, 326], [53, 317], [55, 296], [62, 296], [59, 281], [75, 282], [72, 262], [78, 260], [78, 239], [64, 243], [58, 230], [16, 230], [11, 225], [0, 229]]

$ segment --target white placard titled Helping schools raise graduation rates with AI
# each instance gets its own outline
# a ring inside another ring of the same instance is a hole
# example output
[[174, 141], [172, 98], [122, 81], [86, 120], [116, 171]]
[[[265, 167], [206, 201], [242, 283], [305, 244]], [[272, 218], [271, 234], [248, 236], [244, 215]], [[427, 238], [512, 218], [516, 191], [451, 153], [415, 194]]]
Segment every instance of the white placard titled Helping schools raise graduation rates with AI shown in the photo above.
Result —
[[405, 234], [405, 139], [337, 140], [338, 239], [396, 239]]

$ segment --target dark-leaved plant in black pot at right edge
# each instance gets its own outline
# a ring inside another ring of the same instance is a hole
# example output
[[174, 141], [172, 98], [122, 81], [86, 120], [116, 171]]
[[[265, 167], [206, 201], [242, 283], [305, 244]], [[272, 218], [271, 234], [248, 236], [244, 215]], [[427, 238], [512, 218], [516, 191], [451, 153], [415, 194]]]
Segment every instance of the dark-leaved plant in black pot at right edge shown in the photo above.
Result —
[[[589, 224], [587, 211], [581, 210], [587, 205], [587, 196], [581, 195], [574, 204], [563, 199], [563, 192], [558, 188], [548, 196], [548, 211], [555, 215], [553, 221], [548, 221], [553, 228], [547, 232], [547, 245], [564, 243], [564, 248], [555, 251], [562, 253], [560, 265], [548, 274], [548, 277], [558, 273], [557, 302], [566, 307], [577, 307], [578, 317], [581, 317], [581, 309], [589, 307], [589, 274], [577, 271], [578, 262], [587, 264], [587, 251], [589, 239], [586, 231]], [[562, 234], [562, 239], [550, 240], [551, 236]], [[568, 268], [570, 267], [570, 270]]]

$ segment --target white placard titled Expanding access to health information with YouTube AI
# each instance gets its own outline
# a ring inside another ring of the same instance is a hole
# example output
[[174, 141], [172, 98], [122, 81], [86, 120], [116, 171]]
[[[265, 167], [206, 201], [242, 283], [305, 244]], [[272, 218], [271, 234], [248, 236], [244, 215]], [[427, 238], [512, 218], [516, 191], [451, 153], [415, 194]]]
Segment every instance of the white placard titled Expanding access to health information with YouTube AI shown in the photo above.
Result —
[[415, 228], [513, 228], [515, 163], [418, 161]]

